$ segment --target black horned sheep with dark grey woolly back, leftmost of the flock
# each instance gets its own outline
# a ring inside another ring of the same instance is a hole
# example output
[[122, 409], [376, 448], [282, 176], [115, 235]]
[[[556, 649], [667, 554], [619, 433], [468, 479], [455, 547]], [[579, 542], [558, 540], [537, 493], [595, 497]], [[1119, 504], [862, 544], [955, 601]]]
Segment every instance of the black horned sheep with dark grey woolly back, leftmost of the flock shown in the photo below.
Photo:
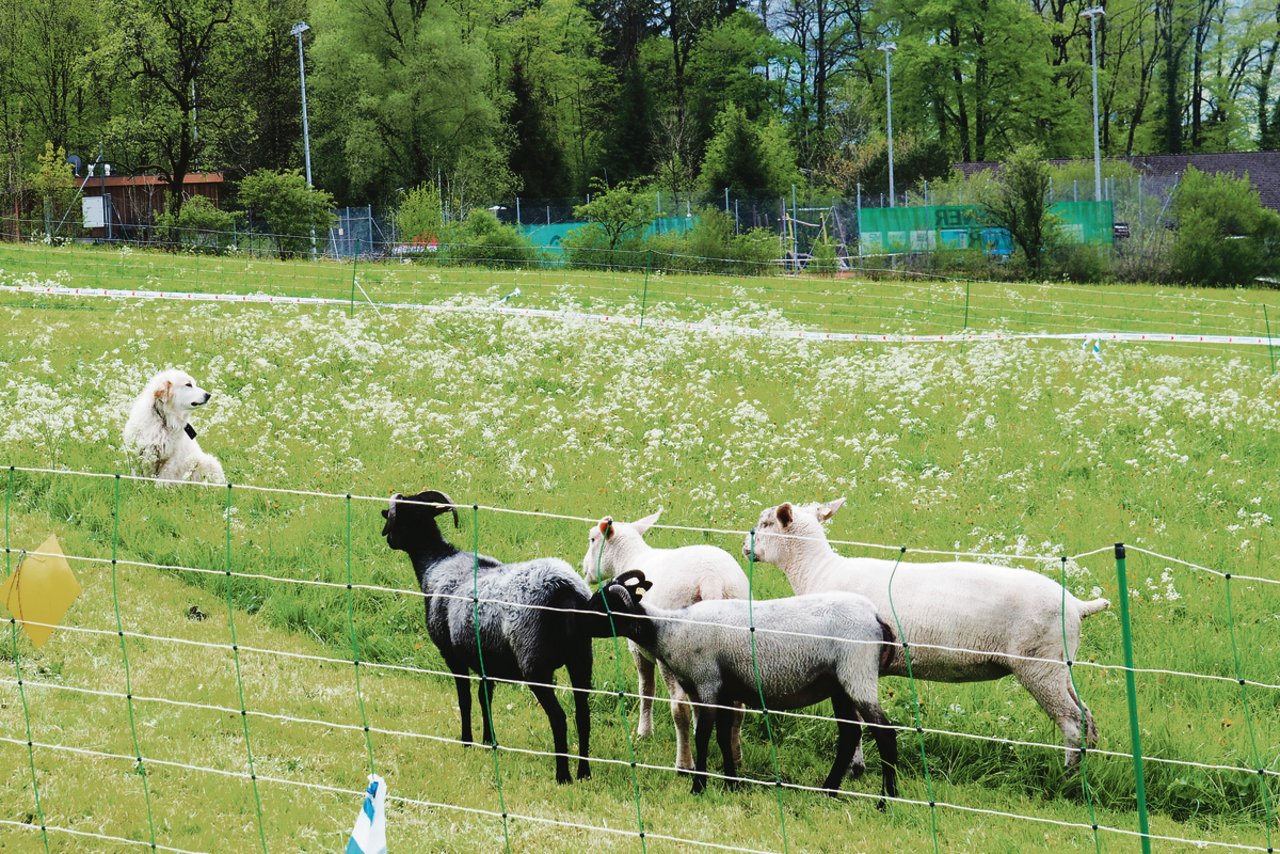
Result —
[[[383, 511], [387, 520], [383, 536], [387, 545], [407, 552], [413, 562], [413, 574], [426, 595], [426, 631], [453, 672], [462, 714], [462, 741], [471, 743], [471, 694], [467, 685], [471, 671], [481, 673], [476, 694], [484, 713], [485, 744], [494, 743], [490, 729], [494, 680], [531, 682], [529, 689], [547, 712], [552, 727], [556, 782], [570, 782], [564, 709], [550, 688], [556, 671], [567, 667], [577, 725], [577, 777], [590, 777], [588, 693], [591, 690], [591, 635], [584, 630], [585, 615], [575, 613], [586, 606], [590, 589], [568, 563], [558, 558], [502, 563], [493, 557], [481, 554], [477, 558], [472, 552], [458, 551], [445, 542], [435, 521], [436, 516], [448, 512], [453, 513], [453, 526], [457, 528], [458, 511], [444, 493], [426, 490], [408, 498], [397, 493]], [[479, 575], [472, 583], [476, 562]], [[472, 595], [479, 598], [479, 604]], [[472, 620], [477, 607], [479, 649]]]

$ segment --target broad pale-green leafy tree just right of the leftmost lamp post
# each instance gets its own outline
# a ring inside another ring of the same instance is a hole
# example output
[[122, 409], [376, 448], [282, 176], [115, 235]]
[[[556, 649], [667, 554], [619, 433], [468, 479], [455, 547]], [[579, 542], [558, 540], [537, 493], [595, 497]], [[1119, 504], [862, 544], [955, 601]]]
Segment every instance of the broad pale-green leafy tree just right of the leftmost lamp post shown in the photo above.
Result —
[[509, 91], [483, 22], [444, 0], [316, 0], [316, 183], [381, 201], [425, 179], [460, 216], [516, 188]]

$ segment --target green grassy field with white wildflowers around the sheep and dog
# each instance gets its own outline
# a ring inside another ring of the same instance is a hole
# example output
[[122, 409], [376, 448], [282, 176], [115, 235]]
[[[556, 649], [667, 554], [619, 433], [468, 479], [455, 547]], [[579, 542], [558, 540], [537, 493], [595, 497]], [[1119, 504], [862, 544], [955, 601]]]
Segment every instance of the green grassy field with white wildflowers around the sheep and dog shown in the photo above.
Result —
[[[329, 288], [346, 296], [349, 275], [349, 268], [329, 264], [0, 246], [0, 284], [280, 294], [326, 294]], [[648, 300], [650, 316], [858, 330], [943, 328], [963, 306], [957, 289], [964, 288], [650, 277], [645, 297], [643, 273], [626, 271], [388, 265], [360, 275], [378, 301], [483, 307], [520, 287], [521, 305], [538, 307], [637, 312]], [[1216, 300], [1211, 302], [1189, 291], [973, 283], [970, 309], [979, 305], [973, 298], [979, 288], [984, 309], [972, 311], [970, 326], [992, 330], [1082, 330], [1114, 321], [1116, 328], [1167, 332], [1157, 323], [1164, 311], [1166, 320], [1176, 319], [1178, 330], [1198, 320], [1204, 332], [1260, 334], [1260, 306], [1276, 307], [1274, 292], [1215, 292], [1207, 294]], [[805, 309], [805, 300], [826, 302]], [[767, 504], [845, 495], [849, 503], [831, 528], [835, 539], [1009, 560], [1078, 554], [1124, 540], [1220, 571], [1280, 579], [1272, 520], [1280, 499], [1280, 380], [1263, 348], [1117, 344], [1105, 346], [1098, 362], [1069, 342], [891, 347], [691, 335], [480, 311], [376, 314], [365, 306], [347, 316], [335, 309], [0, 294], [0, 463], [128, 471], [119, 447], [128, 403], [155, 370], [179, 365], [216, 394], [196, 425], [201, 443], [221, 458], [234, 483], [337, 495], [236, 488], [228, 515], [227, 492], [218, 489], [122, 481], [116, 502], [113, 479], [15, 471], [12, 489], [5, 484], [6, 535], [14, 548], [35, 548], [55, 531], [69, 554], [110, 558], [118, 528], [116, 547], [127, 561], [215, 571], [118, 568], [123, 625], [145, 635], [131, 635], [125, 647], [133, 694], [146, 698], [134, 709], [141, 750], [152, 761], [147, 781], [161, 845], [259, 845], [247, 778], [159, 764], [247, 773], [227, 577], [220, 572], [229, 565], [237, 574], [271, 576], [237, 575], [232, 581], [238, 644], [289, 653], [241, 653], [268, 846], [334, 850], [349, 831], [358, 805], [349, 793], [362, 787], [369, 768], [364, 734], [315, 721], [361, 725], [353, 668], [315, 657], [349, 658], [352, 630], [361, 658], [383, 666], [361, 668], [374, 764], [393, 795], [413, 802], [392, 805], [392, 848], [502, 846], [498, 818], [460, 809], [500, 812], [489, 753], [448, 743], [457, 736], [452, 684], [396, 670], [442, 667], [422, 627], [421, 599], [411, 593], [407, 561], [378, 535], [379, 503], [352, 501], [348, 524], [347, 493], [376, 497], [434, 487], [463, 503], [581, 519], [632, 519], [662, 506], [663, 522], [733, 531], [746, 530]], [[480, 511], [463, 515], [457, 542], [468, 544], [476, 525], [481, 551], [499, 557], [553, 554], [577, 565], [586, 548], [586, 521]], [[346, 583], [348, 538], [351, 577], [388, 588], [355, 590], [352, 618], [344, 586], [303, 584]], [[710, 542], [735, 554], [741, 539], [709, 531], [652, 535], [655, 544]], [[1053, 561], [1027, 565], [1057, 571]], [[86, 631], [55, 634], [38, 652], [24, 638], [17, 643], [32, 737], [56, 745], [35, 749], [42, 808], [52, 826], [148, 841], [142, 777], [128, 758], [128, 709], [119, 697], [125, 689], [111, 566], [101, 560], [74, 566], [84, 595], [67, 621]], [[1068, 576], [1074, 593], [1116, 600], [1108, 551], [1069, 562]], [[1139, 667], [1235, 676], [1221, 579], [1132, 553], [1129, 580]], [[787, 593], [773, 567], [755, 567], [755, 584], [762, 597]], [[1280, 586], [1234, 580], [1231, 594], [1244, 675], [1280, 682]], [[1114, 609], [1091, 618], [1083, 634], [1082, 661], [1121, 661]], [[0, 648], [8, 670], [0, 680], [0, 736], [10, 739], [0, 741], [6, 804], [0, 818], [27, 822], [35, 799], [24, 716], [13, 644]], [[620, 671], [621, 686], [634, 690], [630, 657], [623, 650], [616, 662], [613, 645], [599, 641], [596, 688], [616, 689]], [[1076, 679], [1097, 717], [1100, 746], [1128, 752], [1123, 673], [1082, 666]], [[918, 689], [931, 730], [1057, 741], [1055, 727], [1009, 680]], [[1143, 672], [1138, 694], [1148, 755], [1256, 767], [1234, 682]], [[882, 695], [890, 717], [909, 725], [906, 681], [886, 679]], [[590, 782], [557, 787], [549, 758], [521, 753], [550, 748], [531, 695], [508, 688], [498, 699], [495, 727], [512, 748], [499, 753], [511, 814], [636, 828], [630, 767], [600, 762]], [[1261, 762], [1280, 771], [1280, 690], [1251, 686], [1248, 700]], [[627, 759], [634, 702], [628, 726], [611, 697], [596, 695], [593, 709], [593, 753]], [[666, 767], [673, 752], [671, 723], [664, 713], [655, 722], [655, 737], [636, 744], [637, 761]], [[776, 717], [773, 726], [783, 780], [813, 785], [829, 766], [835, 727], [786, 717]], [[769, 778], [759, 717], [749, 720], [744, 745], [745, 772]], [[924, 746], [940, 803], [1091, 823], [1079, 778], [1061, 772], [1060, 752], [941, 732], [925, 735]], [[904, 732], [900, 748], [904, 796], [928, 800], [914, 735]], [[874, 750], [869, 761], [868, 776], [847, 782], [847, 791], [876, 791]], [[1097, 822], [1135, 828], [1128, 759], [1097, 755], [1089, 778]], [[1152, 831], [1266, 849], [1258, 781], [1256, 773], [1148, 763]], [[1277, 786], [1270, 782], [1274, 796]], [[686, 780], [646, 768], [637, 771], [636, 785], [650, 835], [783, 849], [769, 787], [726, 793], [713, 785], [692, 798]], [[931, 845], [927, 807], [900, 804], [879, 814], [864, 798], [783, 791], [782, 808], [792, 850]], [[1088, 830], [951, 807], [938, 809], [937, 831], [946, 850], [1094, 846]], [[1277, 832], [1270, 828], [1271, 837]], [[635, 836], [529, 818], [511, 822], [511, 841], [518, 850], [639, 848]], [[1108, 832], [1100, 834], [1100, 844], [1137, 848], [1133, 837]], [[56, 834], [50, 845], [86, 848], [84, 840]], [[690, 848], [653, 837], [648, 845]], [[0, 825], [0, 846], [42, 849], [38, 831], [13, 825]], [[96, 841], [91, 846], [99, 849]]]

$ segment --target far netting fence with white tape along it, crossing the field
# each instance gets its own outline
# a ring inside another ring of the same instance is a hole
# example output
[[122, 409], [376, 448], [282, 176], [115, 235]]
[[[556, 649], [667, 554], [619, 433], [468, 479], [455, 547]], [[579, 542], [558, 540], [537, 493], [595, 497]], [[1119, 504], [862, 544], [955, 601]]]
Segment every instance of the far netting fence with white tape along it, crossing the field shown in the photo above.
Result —
[[[571, 270], [490, 259], [480, 266], [206, 257], [155, 251], [0, 243], [0, 291], [27, 300], [97, 297], [490, 312], [882, 343], [1046, 338], [1211, 346], [1263, 356], [1274, 373], [1263, 293], [1207, 297], [1162, 288], [993, 282], [891, 266], [814, 274], [745, 265], [663, 270], [646, 252]], [[668, 259], [669, 261], [669, 259]], [[744, 315], [754, 311], [758, 319]], [[726, 319], [726, 316], [731, 319]]]

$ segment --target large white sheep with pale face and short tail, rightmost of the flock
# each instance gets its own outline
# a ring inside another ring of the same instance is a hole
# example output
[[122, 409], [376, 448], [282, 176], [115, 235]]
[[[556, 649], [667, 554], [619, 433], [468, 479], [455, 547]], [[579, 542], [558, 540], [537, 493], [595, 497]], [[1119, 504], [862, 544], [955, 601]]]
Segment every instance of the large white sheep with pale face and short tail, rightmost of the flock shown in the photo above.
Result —
[[[797, 594], [850, 590], [888, 616], [893, 613], [888, 583], [896, 561], [841, 557], [827, 543], [822, 522], [844, 503], [840, 498], [764, 510], [754, 531], [754, 560], [781, 568]], [[750, 556], [751, 548], [749, 534], [742, 553]], [[910, 644], [915, 679], [968, 682], [1012, 673], [1062, 730], [1068, 768], [1079, 762], [1074, 748], [1080, 746], [1082, 722], [1085, 744], [1097, 744], [1093, 713], [1059, 662], [1075, 657], [1080, 621], [1105, 611], [1110, 606], [1106, 599], [1082, 602], [1030, 570], [963, 561], [902, 562], [893, 580], [892, 606], [901, 620], [902, 644]], [[908, 675], [902, 649], [893, 656], [888, 673]]]

